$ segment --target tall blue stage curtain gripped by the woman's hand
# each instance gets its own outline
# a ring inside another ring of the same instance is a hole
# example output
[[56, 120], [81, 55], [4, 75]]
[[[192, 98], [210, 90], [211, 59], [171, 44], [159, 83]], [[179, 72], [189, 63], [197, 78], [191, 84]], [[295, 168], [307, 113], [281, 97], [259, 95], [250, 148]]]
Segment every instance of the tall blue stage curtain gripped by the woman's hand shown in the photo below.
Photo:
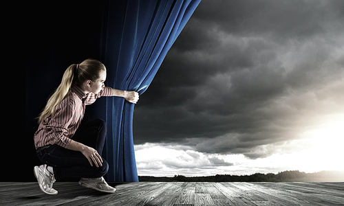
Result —
[[[101, 56], [107, 85], [142, 94], [200, 0], [109, 1], [103, 11]], [[140, 101], [138, 102], [140, 104]], [[107, 122], [107, 181], [138, 181], [133, 148], [134, 104], [106, 98], [96, 108]]]

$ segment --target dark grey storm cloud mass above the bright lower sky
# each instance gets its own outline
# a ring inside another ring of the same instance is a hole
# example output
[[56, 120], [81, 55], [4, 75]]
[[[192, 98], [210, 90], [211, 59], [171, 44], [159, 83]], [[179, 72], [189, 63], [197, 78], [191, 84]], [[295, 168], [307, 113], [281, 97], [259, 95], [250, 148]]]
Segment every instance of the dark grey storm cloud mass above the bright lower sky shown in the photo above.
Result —
[[274, 151], [259, 146], [299, 138], [334, 113], [328, 102], [344, 111], [333, 98], [343, 95], [343, 5], [203, 0], [136, 105], [135, 144], [266, 157]]

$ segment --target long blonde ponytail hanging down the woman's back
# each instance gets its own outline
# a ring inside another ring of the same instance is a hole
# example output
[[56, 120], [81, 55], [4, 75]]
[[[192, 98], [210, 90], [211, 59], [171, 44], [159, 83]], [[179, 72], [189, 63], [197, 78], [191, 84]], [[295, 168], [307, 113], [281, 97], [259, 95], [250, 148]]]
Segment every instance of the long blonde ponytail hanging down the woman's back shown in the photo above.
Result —
[[53, 116], [56, 112], [58, 104], [65, 98], [65, 95], [69, 92], [70, 87], [72, 87], [72, 82], [74, 78], [74, 71], [76, 71], [77, 65], [70, 65], [65, 73], [63, 73], [63, 78], [61, 84], [57, 87], [56, 91], [47, 100], [47, 105], [43, 109], [42, 113], [39, 115], [39, 123], [47, 117]]

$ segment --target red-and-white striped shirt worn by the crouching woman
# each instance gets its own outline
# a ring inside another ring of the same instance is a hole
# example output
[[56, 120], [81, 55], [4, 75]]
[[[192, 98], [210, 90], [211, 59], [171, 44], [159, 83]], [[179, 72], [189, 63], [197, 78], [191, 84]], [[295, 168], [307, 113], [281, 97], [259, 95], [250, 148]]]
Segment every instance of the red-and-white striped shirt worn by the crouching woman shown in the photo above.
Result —
[[85, 113], [85, 106], [101, 96], [111, 96], [111, 87], [104, 87], [98, 94], [87, 93], [72, 84], [65, 98], [58, 104], [54, 116], [47, 117], [34, 133], [37, 148], [57, 144], [67, 148]]

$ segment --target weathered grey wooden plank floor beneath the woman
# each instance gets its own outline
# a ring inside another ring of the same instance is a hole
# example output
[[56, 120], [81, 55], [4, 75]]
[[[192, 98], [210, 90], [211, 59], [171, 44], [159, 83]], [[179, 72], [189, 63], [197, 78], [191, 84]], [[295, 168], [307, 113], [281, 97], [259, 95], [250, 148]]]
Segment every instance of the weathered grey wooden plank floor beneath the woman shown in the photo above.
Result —
[[344, 205], [344, 183], [110, 183], [103, 194], [78, 183], [0, 183], [0, 205]]

